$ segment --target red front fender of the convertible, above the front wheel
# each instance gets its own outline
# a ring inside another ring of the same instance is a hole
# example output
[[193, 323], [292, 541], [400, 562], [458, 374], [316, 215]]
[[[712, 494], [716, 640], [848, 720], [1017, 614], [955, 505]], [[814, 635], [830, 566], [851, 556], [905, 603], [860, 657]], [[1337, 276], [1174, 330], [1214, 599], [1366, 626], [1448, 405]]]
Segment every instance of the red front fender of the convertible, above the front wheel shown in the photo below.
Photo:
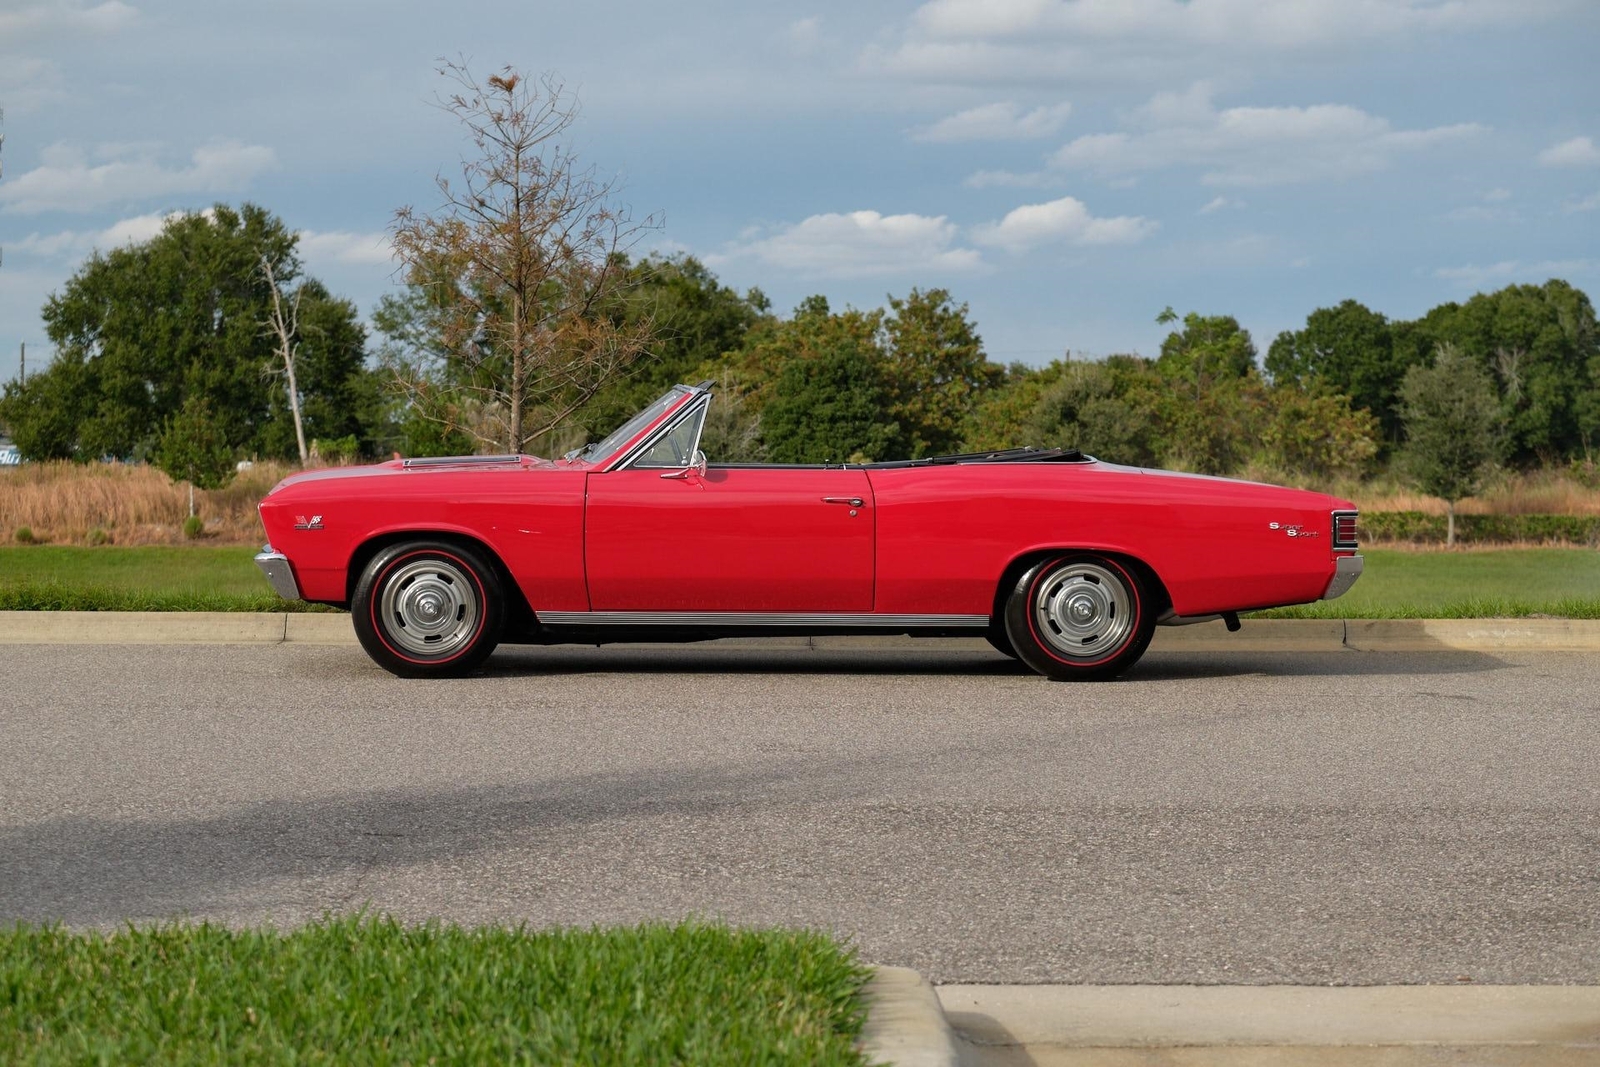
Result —
[[[534, 609], [587, 611], [586, 477], [547, 467], [352, 469], [291, 480], [261, 502], [261, 520], [307, 600], [344, 603], [350, 558], [373, 537], [445, 533], [486, 544]], [[294, 530], [312, 515], [322, 530]]]

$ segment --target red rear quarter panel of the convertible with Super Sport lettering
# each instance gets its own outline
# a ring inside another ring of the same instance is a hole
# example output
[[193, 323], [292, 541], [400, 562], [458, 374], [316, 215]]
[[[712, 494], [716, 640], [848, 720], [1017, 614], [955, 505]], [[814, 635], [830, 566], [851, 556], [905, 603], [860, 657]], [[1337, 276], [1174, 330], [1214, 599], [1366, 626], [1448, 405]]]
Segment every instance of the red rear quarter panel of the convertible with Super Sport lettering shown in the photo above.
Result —
[[[869, 477], [883, 613], [987, 614], [1014, 560], [1061, 549], [1144, 561], [1178, 614], [1304, 603], [1333, 576], [1331, 510], [1342, 502], [1322, 493], [1099, 462]], [[1312, 533], [1290, 537], [1290, 525]]]

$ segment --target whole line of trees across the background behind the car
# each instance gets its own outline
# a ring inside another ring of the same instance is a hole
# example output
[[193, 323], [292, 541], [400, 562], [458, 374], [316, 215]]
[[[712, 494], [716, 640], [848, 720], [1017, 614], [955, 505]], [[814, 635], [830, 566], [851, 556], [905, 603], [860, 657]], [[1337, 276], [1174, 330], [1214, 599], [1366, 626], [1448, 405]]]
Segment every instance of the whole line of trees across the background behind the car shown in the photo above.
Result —
[[1264, 357], [1234, 317], [1166, 309], [1154, 357], [1000, 365], [946, 290], [779, 315], [691, 256], [635, 256], [653, 221], [562, 147], [562, 86], [442, 74], [474, 152], [437, 210], [397, 213], [405, 283], [373, 310], [376, 336], [266, 208], [174, 216], [91, 254], [45, 304], [56, 358], [0, 397], [22, 453], [147, 459], [202, 486], [246, 456], [560, 454], [706, 378], [722, 384], [715, 461], [1037, 445], [1290, 480], [1402, 462], [1454, 501], [1493, 462], [1565, 464], [1600, 440], [1600, 333], [1566, 282], [1411, 322], [1344, 301]]

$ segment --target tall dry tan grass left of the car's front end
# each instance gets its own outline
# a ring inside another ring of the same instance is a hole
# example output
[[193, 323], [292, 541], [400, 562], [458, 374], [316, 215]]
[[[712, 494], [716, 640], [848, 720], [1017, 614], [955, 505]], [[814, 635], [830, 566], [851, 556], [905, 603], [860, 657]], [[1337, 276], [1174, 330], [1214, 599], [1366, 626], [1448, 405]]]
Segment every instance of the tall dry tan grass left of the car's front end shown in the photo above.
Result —
[[[224, 490], [195, 491], [208, 544], [259, 544], [256, 504], [293, 469], [259, 462]], [[154, 467], [42, 462], [0, 467], [0, 544], [32, 530], [53, 544], [181, 544], [189, 486]], [[99, 534], [96, 534], [99, 531]]]

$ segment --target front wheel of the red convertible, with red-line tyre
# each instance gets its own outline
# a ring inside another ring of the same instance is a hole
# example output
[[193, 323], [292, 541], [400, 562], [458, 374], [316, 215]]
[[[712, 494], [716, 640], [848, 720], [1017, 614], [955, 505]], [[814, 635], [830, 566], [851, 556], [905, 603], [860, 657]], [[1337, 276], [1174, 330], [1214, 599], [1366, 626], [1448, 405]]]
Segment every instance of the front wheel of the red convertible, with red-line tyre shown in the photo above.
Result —
[[408, 541], [373, 557], [350, 600], [362, 648], [402, 678], [462, 675], [499, 643], [506, 595], [482, 553]]

